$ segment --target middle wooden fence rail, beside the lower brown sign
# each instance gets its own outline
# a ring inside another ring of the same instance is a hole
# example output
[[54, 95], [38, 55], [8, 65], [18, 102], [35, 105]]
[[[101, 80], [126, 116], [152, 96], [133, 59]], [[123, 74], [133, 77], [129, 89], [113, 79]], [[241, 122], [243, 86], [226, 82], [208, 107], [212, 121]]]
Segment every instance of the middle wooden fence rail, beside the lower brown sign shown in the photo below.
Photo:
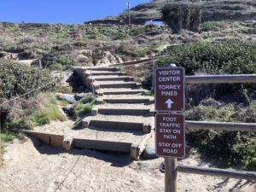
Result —
[[248, 131], [256, 132], [256, 124], [222, 123], [187, 120], [186, 126], [192, 130]]

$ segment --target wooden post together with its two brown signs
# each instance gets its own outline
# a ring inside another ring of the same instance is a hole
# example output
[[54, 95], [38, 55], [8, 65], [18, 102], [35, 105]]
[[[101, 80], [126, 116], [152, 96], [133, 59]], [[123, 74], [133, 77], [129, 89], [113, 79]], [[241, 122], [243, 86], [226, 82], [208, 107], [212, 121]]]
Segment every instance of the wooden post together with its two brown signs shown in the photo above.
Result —
[[156, 154], [165, 157], [165, 191], [177, 192], [177, 159], [185, 156], [183, 67], [154, 70]]

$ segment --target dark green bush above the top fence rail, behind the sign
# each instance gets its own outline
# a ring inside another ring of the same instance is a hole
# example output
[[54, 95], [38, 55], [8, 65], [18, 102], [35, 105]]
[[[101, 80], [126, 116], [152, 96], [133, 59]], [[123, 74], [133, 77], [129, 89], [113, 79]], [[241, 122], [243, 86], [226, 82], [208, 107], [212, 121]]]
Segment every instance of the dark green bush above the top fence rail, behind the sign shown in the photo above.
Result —
[[158, 66], [170, 63], [185, 67], [188, 74], [255, 73], [256, 45], [239, 40], [181, 45], [161, 59]]

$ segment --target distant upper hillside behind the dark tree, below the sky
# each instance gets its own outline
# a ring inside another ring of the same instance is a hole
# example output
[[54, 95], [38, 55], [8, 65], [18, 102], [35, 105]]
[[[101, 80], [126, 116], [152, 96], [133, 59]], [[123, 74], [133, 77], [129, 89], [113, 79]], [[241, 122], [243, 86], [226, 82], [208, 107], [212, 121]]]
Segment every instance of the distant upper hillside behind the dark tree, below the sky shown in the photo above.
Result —
[[[177, 1], [170, 1], [177, 2]], [[184, 3], [188, 1], [178, 1]], [[147, 20], [160, 19], [160, 8], [166, 0], [154, 0], [142, 3], [131, 9], [131, 23], [143, 25]], [[203, 0], [202, 20], [256, 20], [255, 0]], [[88, 22], [89, 23], [89, 22]], [[91, 20], [90, 23], [127, 23], [127, 12], [102, 20]]]

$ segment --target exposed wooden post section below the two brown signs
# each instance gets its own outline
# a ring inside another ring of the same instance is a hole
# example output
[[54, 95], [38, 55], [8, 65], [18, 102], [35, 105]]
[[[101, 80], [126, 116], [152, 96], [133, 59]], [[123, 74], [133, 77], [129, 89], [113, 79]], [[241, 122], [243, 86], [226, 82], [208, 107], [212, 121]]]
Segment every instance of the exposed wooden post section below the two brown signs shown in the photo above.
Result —
[[177, 159], [165, 158], [165, 192], [177, 192]]

